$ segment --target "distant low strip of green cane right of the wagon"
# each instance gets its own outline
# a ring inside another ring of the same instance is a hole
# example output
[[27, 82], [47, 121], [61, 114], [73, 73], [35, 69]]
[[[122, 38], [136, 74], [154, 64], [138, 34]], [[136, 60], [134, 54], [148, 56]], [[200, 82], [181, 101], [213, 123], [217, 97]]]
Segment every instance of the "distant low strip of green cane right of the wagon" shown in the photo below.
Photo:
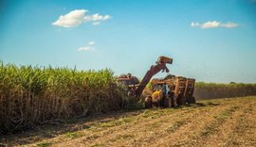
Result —
[[194, 90], [194, 96], [197, 99], [239, 97], [248, 95], [256, 95], [256, 84], [218, 84], [197, 82]]

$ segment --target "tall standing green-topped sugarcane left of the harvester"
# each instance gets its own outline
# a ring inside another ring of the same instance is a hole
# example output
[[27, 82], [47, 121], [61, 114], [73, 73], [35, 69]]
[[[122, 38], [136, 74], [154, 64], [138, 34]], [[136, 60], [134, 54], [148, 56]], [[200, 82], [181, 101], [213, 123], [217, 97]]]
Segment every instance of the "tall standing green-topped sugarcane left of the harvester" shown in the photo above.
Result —
[[85, 72], [0, 62], [0, 134], [122, 106], [109, 69]]

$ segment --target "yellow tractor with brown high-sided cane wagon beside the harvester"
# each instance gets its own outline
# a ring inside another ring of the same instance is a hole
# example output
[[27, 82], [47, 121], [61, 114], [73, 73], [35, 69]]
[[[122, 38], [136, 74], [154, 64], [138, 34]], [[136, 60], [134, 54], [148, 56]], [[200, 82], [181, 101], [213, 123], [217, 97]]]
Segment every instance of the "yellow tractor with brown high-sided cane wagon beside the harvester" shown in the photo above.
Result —
[[152, 94], [145, 99], [145, 106], [182, 106], [194, 104], [192, 96], [195, 79], [183, 76], [167, 75], [165, 78], [155, 78], [151, 82]]

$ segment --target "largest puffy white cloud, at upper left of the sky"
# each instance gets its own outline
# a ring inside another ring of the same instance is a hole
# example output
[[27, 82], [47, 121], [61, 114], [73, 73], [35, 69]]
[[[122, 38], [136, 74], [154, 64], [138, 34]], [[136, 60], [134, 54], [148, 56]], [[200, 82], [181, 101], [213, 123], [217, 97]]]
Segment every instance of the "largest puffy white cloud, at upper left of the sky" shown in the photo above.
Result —
[[93, 25], [99, 25], [101, 21], [106, 21], [111, 18], [110, 15], [100, 15], [99, 13], [87, 15], [86, 12], [88, 12], [86, 9], [72, 10], [65, 15], [61, 15], [59, 19], [52, 24], [62, 27], [73, 27], [82, 23], [91, 22]]

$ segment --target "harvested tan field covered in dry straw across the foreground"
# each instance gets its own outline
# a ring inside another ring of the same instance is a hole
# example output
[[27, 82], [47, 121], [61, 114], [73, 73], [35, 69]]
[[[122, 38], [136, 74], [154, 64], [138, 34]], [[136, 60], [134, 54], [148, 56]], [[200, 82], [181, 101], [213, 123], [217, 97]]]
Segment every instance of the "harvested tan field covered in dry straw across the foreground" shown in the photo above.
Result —
[[0, 143], [41, 147], [256, 146], [256, 97], [113, 112], [4, 136]]

